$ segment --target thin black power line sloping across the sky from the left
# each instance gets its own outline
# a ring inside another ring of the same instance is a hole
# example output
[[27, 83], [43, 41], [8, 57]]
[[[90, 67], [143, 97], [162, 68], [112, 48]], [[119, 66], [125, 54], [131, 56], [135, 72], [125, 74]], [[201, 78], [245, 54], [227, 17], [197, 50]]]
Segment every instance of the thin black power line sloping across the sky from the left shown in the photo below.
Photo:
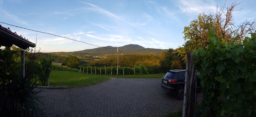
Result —
[[[9, 26], [15, 26], [15, 25], [12, 25], [12, 24], [9, 24], [9, 23], [4, 23], [4, 22], [0, 22], [0, 23], [7, 24]], [[44, 34], [49, 34], [49, 35], [53, 35], [53, 36], [56, 36], [56, 37], [62, 37], [62, 38], [66, 38], [68, 40], [73, 40], [73, 41], [77, 41], [77, 42], [80, 42], [80, 43], [85, 43], [85, 44], [92, 45], [92, 46], [103, 47], [103, 46], [98, 46], [98, 45], [82, 42], [82, 41], [79, 41], [79, 40], [74, 40], [74, 39], [71, 39], [71, 38], [68, 38], [68, 37], [59, 36], [59, 35], [56, 35], [56, 34], [50, 34], [50, 33], [43, 32], [43, 31], [36, 31], [36, 30], [32, 30], [32, 29], [23, 28], [23, 27], [20, 27], [20, 26], [15, 26], [15, 27], [30, 30], [30, 31], [40, 32], [40, 33], [44, 33]], [[103, 47], [103, 48], [108, 48], [108, 47]], [[108, 49], [111, 49], [111, 48], [108, 48]]]

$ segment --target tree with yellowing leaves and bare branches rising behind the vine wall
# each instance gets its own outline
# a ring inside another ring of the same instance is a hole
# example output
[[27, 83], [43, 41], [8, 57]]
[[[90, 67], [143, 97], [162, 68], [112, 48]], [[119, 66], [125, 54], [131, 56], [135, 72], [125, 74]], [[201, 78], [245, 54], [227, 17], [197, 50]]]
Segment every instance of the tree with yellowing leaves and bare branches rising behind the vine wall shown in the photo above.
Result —
[[[236, 26], [233, 20], [233, 11], [239, 5], [232, 3], [230, 6], [221, 7], [215, 15], [199, 14], [198, 19], [192, 20], [189, 26], [184, 27], [184, 40], [186, 51], [198, 49], [199, 47], [207, 48], [209, 38], [207, 34], [210, 29], [215, 31], [219, 40], [224, 42], [241, 43], [244, 37], [255, 30], [256, 21], [245, 20]], [[218, 8], [218, 7], [217, 7]]]

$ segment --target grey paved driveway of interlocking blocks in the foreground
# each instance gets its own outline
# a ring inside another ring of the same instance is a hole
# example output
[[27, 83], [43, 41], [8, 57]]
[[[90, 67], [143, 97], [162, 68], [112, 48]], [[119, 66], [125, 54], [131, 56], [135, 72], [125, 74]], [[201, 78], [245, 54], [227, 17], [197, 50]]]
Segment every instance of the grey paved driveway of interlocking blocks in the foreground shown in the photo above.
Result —
[[[45, 117], [160, 116], [182, 108], [163, 91], [161, 79], [111, 78], [93, 86], [44, 89]], [[36, 89], [40, 90], [40, 89]], [[199, 94], [201, 100], [201, 94]]]

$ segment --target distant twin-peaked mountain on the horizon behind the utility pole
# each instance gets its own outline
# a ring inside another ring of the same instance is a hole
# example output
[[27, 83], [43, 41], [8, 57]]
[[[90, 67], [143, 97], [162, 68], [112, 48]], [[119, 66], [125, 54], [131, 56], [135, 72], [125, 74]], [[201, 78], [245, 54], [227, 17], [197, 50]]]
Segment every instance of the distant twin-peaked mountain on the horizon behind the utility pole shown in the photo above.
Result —
[[[118, 47], [119, 52], [121, 54], [161, 54], [162, 51], [167, 51], [167, 49], [151, 49], [151, 48], [144, 48], [140, 45], [129, 44], [122, 47]], [[88, 55], [88, 56], [111, 56], [115, 55], [117, 47], [106, 46], [106, 47], [99, 47], [95, 49], [85, 49], [82, 51], [73, 51], [70, 52], [72, 54], [78, 55]], [[120, 54], [119, 53], [119, 54]]]

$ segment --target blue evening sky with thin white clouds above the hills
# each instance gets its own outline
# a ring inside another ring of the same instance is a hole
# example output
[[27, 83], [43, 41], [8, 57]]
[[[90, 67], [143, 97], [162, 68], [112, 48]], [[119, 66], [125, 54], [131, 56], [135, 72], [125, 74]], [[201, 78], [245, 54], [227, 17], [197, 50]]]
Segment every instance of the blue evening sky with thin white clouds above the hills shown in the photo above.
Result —
[[[240, 3], [233, 13], [239, 25], [256, 18], [256, 0]], [[145, 48], [176, 49], [184, 44], [183, 29], [198, 14], [215, 14], [225, 0], [0, 0], [0, 22], [68, 37], [97, 46], [138, 44]], [[9, 27], [36, 43], [41, 52], [80, 51], [92, 46]], [[37, 39], [37, 41], [36, 41]]]

